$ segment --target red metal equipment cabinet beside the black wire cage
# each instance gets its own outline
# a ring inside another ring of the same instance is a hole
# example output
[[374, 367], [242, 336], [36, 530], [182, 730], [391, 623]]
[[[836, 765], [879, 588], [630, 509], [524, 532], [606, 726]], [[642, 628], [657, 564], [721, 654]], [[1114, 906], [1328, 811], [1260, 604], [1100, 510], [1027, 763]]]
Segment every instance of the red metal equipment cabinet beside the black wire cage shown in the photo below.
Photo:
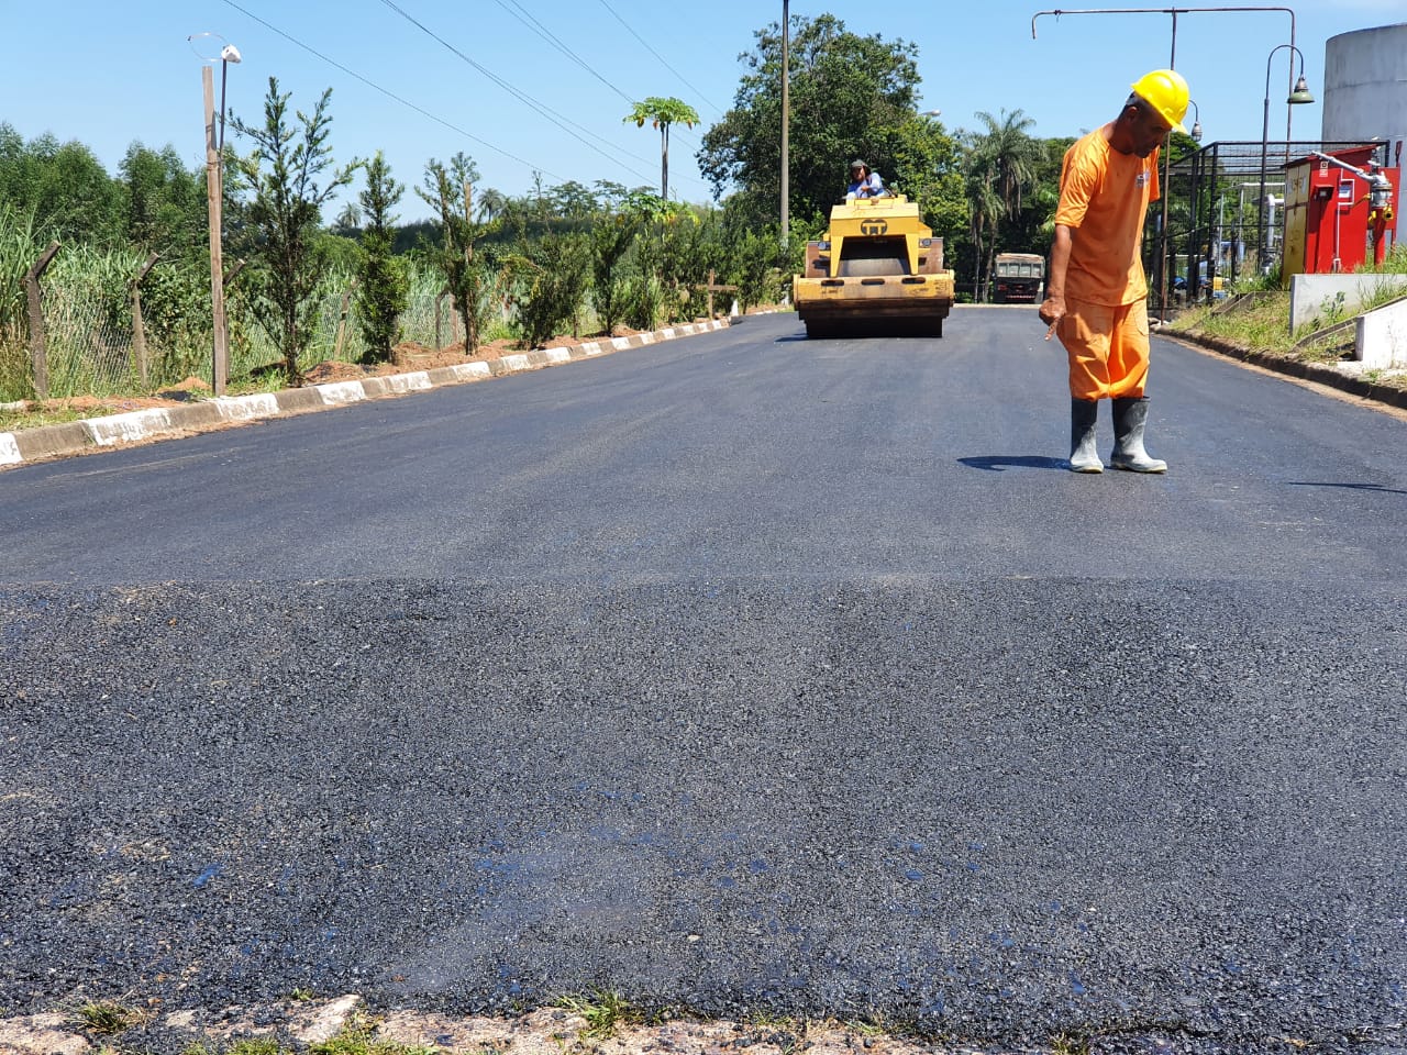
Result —
[[1375, 165], [1377, 149], [1368, 143], [1311, 153], [1285, 166], [1280, 281], [1286, 288], [1293, 274], [1352, 271], [1369, 259], [1382, 263], [1397, 238], [1400, 173]]

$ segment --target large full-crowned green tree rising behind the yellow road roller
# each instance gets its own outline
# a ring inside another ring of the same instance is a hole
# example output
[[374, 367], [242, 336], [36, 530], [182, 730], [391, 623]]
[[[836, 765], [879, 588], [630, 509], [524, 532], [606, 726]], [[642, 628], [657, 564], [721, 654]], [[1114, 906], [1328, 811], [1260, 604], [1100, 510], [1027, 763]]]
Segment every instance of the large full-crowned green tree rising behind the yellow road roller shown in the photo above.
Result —
[[[846, 166], [864, 158], [895, 172], [893, 129], [915, 115], [917, 49], [903, 41], [857, 37], [834, 15], [792, 20], [789, 205], [810, 224], [844, 194]], [[736, 187], [750, 222], [767, 224], [781, 197], [781, 27], [756, 32], [757, 51], [733, 108], [704, 135], [699, 166], [716, 197]]]

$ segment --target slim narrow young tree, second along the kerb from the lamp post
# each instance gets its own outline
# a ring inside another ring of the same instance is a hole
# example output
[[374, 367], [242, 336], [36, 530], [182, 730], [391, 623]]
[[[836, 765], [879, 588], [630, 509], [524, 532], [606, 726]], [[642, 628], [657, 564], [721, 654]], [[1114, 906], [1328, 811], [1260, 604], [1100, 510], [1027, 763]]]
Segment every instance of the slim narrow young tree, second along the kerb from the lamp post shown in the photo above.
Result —
[[367, 362], [388, 362], [391, 346], [401, 335], [401, 312], [409, 298], [409, 284], [401, 260], [393, 255], [395, 217], [391, 210], [405, 187], [391, 179], [391, 167], [377, 151], [366, 166], [366, 190], [362, 203], [366, 229], [362, 232], [362, 262], [357, 273], [357, 315], [366, 338]]

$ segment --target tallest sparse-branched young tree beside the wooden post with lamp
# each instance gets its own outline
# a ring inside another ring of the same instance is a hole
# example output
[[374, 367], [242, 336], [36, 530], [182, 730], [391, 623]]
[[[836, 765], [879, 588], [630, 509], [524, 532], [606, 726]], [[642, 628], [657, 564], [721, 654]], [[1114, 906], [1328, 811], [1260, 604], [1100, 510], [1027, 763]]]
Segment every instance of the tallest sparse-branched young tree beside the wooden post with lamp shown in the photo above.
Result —
[[[332, 89], [322, 93], [312, 114], [295, 113], [298, 128], [290, 121], [290, 97], [279, 94], [277, 77], [269, 77], [263, 125], [232, 117], [231, 128], [255, 143], [253, 153], [236, 166], [253, 196], [246, 215], [259, 260], [252, 308], [283, 356], [288, 384], [297, 385], [303, 380], [298, 357], [312, 340], [317, 322], [312, 294], [321, 276], [317, 236], [322, 205], [352, 181], [357, 163], [340, 169], [332, 165]], [[328, 181], [319, 184], [324, 174]]]

